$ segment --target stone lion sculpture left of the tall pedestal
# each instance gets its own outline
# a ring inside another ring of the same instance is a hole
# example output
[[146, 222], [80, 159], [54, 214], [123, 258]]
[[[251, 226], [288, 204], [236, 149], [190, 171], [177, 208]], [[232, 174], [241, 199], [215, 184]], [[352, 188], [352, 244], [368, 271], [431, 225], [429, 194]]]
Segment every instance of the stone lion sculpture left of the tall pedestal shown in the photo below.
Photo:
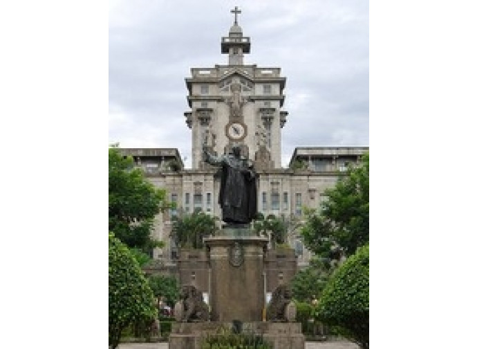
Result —
[[176, 321], [200, 322], [209, 320], [209, 306], [202, 293], [192, 285], [180, 289], [180, 301], [174, 307]]

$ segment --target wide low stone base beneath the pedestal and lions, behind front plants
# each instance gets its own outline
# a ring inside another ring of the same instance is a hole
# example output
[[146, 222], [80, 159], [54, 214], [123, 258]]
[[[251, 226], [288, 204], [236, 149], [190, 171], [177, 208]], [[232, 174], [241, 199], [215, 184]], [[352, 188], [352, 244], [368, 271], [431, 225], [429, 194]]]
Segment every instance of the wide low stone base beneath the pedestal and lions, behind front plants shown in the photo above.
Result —
[[[232, 329], [232, 323], [173, 323], [169, 336], [169, 349], [200, 349], [207, 334], [217, 334], [219, 330]], [[244, 333], [262, 336], [272, 343], [273, 349], [304, 349], [305, 337], [301, 334], [301, 323], [243, 323]]]

